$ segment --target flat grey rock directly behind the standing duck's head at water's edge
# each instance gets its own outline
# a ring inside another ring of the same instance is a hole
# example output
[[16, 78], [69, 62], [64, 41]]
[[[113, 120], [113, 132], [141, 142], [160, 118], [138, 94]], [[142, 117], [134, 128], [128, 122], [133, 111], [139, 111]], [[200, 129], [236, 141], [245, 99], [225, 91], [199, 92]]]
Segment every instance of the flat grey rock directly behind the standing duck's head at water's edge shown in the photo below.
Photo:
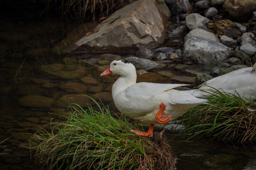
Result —
[[160, 65], [155, 61], [151, 61], [149, 59], [141, 59], [138, 57], [127, 57], [125, 59], [130, 61], [136, 68], [139, 69], [149, 70]]

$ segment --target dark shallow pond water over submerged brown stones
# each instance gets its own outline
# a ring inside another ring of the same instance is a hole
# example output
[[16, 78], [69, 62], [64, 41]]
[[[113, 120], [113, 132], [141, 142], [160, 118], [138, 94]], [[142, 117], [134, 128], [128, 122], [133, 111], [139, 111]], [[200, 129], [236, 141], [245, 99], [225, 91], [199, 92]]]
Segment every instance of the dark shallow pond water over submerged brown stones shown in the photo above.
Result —
[[[39, 126], [57, 121], [59, 115], [67, 113], [69, 102], [84, 107], [91, 103], [86, 97], [77, 97], [79, 94], [100, 97], [111, 111], [118, 112], [111, 97], [111, 85], [118, 76], [101, 77], [100, 73], [111, 60], [126, 56], [57, 55], [53, 47], [66, 37], [73, 25], [39, 16], [40, 13], [28, 12], [0, 16], [0, 142], [11, 136], [0, 144], [1, 170], [41, 169], [28, 150], [29, 137]], [[197, 66], [190, 65], [189, 69], [192, 68]], [[138, 81], [188, 83], [195, 77], [191, 72], [180, 61], [173, 61], [165, 68], [139, 75]], [[170, 78], [171, 73], [184, 81]], [[186, 141], [186, 136], [172, 139], [174, 135], [165, 132], [174, 150], [177, 170], [256, 169], [253, 144]]]

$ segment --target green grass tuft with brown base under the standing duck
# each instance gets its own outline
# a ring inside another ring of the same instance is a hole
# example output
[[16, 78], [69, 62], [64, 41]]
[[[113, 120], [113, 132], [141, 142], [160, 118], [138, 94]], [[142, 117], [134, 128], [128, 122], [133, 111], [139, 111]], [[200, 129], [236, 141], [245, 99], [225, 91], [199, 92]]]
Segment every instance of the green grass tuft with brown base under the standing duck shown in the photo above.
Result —
[[[94, 101], [95, 102], [95, 101]], [[96, 103], [96, 102], [95, 102]], [[98, 105], [98, 103], [97, 103]], [[36, 158], [49, 170], [172, 170], [174, 157], [162, 135], [141, 137], [126, 118], [106, 108], [69, 106], [66, 121], [51, 123], [31, 137]], [[117, 117], [117, 116], [116, 116]]]

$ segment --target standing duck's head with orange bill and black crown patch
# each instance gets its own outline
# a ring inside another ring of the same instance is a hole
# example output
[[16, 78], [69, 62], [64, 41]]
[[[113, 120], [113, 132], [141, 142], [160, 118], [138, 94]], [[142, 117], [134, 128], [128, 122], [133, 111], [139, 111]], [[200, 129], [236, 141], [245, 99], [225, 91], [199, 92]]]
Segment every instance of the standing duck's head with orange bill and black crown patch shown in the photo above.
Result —
[[120, 76], [136, 76], [136, 68], [126, 59], [117, 59], [111, 62], [109, 67], [101, 73], [101, 76], [117, 74]]

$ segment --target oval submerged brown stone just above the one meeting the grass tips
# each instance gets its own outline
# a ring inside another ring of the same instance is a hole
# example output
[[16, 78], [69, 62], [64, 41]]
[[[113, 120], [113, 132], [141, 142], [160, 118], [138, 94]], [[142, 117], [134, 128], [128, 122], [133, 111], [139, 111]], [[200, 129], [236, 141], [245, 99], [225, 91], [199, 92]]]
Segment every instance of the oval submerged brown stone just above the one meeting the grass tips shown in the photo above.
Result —
[[60, 88], [68, 93], [84, 93], [87, 91], [86, 85], [75, 82], [67, 82], [61, 85]]

